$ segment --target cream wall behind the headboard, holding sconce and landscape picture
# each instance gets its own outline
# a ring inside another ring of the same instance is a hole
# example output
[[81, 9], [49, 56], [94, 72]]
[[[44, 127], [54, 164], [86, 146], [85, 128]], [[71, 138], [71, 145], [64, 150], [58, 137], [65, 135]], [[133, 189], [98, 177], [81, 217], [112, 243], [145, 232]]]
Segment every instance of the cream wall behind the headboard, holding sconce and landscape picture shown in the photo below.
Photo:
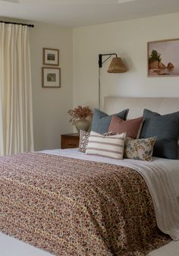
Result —
[[[73, 30], [74, 106], [98, 106], [98, 55], [117, 52], [127, 65], [124, 74], [101, 69], [104, 96], [179, 96], [179, 77], [147, 77], [147, 42], [179, 38], [179, 13]], [[177, 52], [178, 54], [178, 52]]]

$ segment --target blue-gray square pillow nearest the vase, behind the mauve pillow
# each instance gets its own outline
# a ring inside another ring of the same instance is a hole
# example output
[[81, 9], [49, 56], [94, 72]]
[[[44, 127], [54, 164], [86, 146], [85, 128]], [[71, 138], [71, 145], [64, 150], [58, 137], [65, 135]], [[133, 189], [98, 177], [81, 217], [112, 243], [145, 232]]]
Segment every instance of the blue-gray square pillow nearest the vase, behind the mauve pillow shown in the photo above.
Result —
[[[118, 112], [115, 115], [117, 115], [123, 120], [126, 120], [128, 112], [129, 112], [129, 109], [125, 109], [121, 112]], [[99, 134], [104, 134], [105, 132], [108, 132], [108, 127], [111, 122], [111, 117], [112, 115], [108, 115], [99, 109], [94, 109], [91, 130], [96, 131]]]

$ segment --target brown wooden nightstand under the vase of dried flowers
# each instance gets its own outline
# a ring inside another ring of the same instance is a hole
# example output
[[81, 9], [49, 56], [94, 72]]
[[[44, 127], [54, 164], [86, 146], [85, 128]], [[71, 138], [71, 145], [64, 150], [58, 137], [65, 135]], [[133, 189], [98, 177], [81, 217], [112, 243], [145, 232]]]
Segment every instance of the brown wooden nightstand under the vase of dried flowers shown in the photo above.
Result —
[[61, 148], [79, 147], [80, 134], [61, 134]]

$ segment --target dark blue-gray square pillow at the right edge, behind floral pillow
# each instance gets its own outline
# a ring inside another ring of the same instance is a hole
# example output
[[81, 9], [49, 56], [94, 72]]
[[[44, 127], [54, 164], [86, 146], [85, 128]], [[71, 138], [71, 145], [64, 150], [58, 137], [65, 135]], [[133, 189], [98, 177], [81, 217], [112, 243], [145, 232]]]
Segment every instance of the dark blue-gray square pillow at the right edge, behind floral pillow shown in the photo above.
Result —
[[168, 159], [178, 158], [179, 112], [160, 115], [148, 109], [143, 111], [143, 128], [141, 138], [157, 137], [153, 156]]

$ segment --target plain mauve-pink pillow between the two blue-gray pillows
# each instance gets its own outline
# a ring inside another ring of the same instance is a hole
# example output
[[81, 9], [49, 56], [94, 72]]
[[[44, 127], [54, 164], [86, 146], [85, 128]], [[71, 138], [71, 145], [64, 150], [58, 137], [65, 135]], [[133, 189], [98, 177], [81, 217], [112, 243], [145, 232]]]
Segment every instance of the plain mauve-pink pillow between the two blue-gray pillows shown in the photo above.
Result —
[[127, 137], [137, 138], [142, 122], [143, 117], [124, 121], [123, 119], [118, 118], [118, 116], [112, 115], [108, 132], [115, 132], [118, 134], [127, 132]]

